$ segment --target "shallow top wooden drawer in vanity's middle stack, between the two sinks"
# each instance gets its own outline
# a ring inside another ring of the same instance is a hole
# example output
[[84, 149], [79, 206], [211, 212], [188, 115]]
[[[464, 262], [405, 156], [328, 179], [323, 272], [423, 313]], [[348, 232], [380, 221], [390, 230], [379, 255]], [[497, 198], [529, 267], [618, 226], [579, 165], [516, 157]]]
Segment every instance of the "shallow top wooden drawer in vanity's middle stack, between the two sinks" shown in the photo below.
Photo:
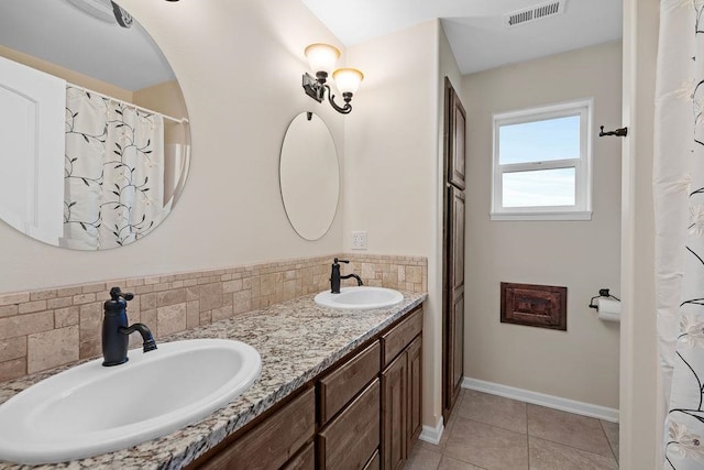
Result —
[[318, 381], [320, 424], [324, 425], [380, 371], [378, 341]]

